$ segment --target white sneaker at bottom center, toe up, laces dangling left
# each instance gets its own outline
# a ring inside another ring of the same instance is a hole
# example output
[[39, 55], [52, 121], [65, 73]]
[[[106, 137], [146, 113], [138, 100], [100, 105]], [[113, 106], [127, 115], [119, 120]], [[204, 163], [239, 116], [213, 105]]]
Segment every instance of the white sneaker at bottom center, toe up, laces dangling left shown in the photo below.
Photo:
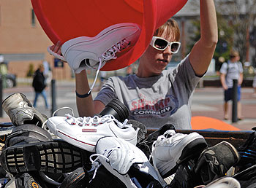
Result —
[[[133, 165], [140, 173], [147, 173], [152, 179], [159, 181], [163, 187], [167, 185], [148, 161], [146, 155], [138, 147], [122, 138], [100, 138], [97, 142], [96, 152], [97, 154], [92, 154], [90, 157], [92, 164], [96, 164], [94, 173], [97, 173], [97, 168], [102, 164], [110, 173], [124, 182], [127, 187], [136, 187], [128, 174]], [[92, 157], [97, 158], [92, 160]]]

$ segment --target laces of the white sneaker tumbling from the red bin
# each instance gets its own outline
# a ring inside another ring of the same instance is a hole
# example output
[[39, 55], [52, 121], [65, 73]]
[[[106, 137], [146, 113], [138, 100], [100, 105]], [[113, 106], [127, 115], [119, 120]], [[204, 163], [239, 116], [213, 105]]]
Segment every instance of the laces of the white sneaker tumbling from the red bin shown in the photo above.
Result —
[[[114, 44], [112, 47], [110, 47], [110, 49], [108, 49], [106, 52], [104, 52], [101, 57], [99, 57], [99, 66], [97, 68], [96, 74], [95, 74], [95, 78], [94, 78], [94, 82], [91, 85], [91, 88], [89, 90], [89, 93], [91, 93], [92, 89], [94, 88], [94, 85], [97, 81], [97, 77], [99, 75], [99, 69], [102, 68], [102, 66], [105, 66], [105, 63], [108, 60], [112, 60], [112, 59], [116, 59], [116, 53], [117, 52], [121, 52], [121, 50], [123, 50], [124, 48], [127, 48], [129, 46], [130, 42], [128, 42], [126, 39], [121, 40], [121, 42], [118, 42], [116, 44]], [[88, 64], [86, 64], [86, 66], [89, 66]], [[89, 66], [89, 68], [93, 68], [92, 66]]]

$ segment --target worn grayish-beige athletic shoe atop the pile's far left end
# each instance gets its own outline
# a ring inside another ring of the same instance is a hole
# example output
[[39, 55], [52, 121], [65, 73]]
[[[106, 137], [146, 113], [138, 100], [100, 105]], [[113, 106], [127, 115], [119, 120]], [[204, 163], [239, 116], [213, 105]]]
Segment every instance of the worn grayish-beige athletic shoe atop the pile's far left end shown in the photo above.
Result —
[[15, 126], [34, 124], [41, 127], [47, 120], [47, 117], [37, 111], [23, 93], [10, 95], [3, 101], [2, 107]]

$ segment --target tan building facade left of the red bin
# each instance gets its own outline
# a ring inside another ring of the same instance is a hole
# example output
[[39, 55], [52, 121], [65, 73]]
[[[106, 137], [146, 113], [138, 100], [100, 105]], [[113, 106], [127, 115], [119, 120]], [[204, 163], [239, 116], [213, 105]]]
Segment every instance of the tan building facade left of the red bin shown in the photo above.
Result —
[[47, 52], [52, 42], [42, 30], [30, 0], [0, 0], [0, 55], [8, 71], [17, 77], [26, 77], [30, 65], [34, 71], [47, 60], [56, 79], [71, 77], [67, 63], [54, 67], [54, 58]]

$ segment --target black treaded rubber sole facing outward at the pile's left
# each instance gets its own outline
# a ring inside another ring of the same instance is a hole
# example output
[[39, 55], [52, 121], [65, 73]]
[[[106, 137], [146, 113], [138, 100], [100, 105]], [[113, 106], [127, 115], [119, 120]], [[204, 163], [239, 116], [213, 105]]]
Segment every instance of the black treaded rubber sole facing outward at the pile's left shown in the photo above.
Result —
[[63, 140], [10, 146], [1, 152], [1, 166], [10, 173], [69, 173], [89, 162], [91, 152]]

